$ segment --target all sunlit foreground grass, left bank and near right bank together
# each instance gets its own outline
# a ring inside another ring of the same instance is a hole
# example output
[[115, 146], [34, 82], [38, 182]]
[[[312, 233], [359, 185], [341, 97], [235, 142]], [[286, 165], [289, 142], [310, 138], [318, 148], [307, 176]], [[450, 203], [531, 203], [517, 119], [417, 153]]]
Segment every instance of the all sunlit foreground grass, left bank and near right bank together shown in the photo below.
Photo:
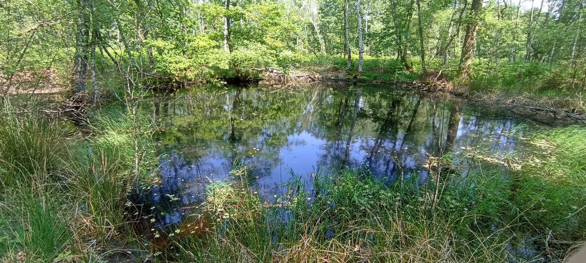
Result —
[[[155, 244], [135, 236], [125, 215], [134, 125], [101, 114], [89, 140], [34, 116], [2, 120], [2, 260], [100, 261], [120, 243], [179, 262], [562, 260], [586, 239], [586, 133], [566, 127], [530, 136], [529, 157], [509, 160], [520, 162], [516, 169], [481, 153], [448, 153], [423, 185], [389, 185], [353, 169], [317, 172], [309, 184], [292, 174], [287, 191], [264, 202], [251, 188], [254, 175], [235, 165], [229, 179], [207, 185], [199, 212]], [[142, 164], [153, 171], [144, 120], [140, 145], [150, 156]], [[451, 167], [462, 158], [482, 169], [462, 177]]]

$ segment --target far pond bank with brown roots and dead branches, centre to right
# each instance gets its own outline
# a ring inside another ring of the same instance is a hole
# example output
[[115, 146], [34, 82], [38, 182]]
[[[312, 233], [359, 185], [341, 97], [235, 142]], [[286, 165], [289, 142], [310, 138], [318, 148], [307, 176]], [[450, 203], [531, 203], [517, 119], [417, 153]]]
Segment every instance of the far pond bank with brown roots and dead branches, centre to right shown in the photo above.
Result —
[[[357, 84], [391, 85], [399, 88], [413, 89], [416, 92], [450, 98], [455, 96], [464, 99], [478, 108], [488, 107], [512, 117], [523, 117], [538, 122], [556, 125], [586, 124], [586, 110], [584, 102], [577, 99], [540, 98], [530, 94], [508, 94], [505, 92], [459, 92], [448, 77], [430, 72], [427, 80], [415, 81], [381, 81], [369, 78], [339, 77], [344, 75], [339, 71], [328, 71], [322, 74], [316, 72], [286, 73], [276, 68], [254, 69], [260, 72], [260, 82], [269, 85], [311, 84], [317, 82], [347, 82]], [[264, 75], [263, 75], [264, 74]]]

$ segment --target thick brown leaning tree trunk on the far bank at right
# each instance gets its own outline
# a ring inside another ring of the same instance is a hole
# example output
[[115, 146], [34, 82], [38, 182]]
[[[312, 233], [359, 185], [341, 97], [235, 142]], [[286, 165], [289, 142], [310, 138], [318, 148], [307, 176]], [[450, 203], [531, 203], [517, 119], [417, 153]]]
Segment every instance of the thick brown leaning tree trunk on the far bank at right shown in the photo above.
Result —
[[[462, 44], [462, 55], [460, 56], [459, 75], [462, 84], [467, 84], [472, 70], [472, 58], [476, 44], [476, 29], [478, 27], [478, 13], [482, 9], [482, 0], [472, 0], [466, 35]], [[464, 85], [467, 86], [467, 85]], [[467, 92], [467, 90], [465, 91]]]

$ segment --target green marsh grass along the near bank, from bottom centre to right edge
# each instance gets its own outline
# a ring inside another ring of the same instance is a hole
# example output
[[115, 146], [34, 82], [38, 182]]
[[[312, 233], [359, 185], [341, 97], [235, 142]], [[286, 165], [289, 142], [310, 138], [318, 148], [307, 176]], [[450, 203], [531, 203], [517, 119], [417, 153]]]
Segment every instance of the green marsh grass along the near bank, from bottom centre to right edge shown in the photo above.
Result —
[[[581, 137], [580, 129], [575, 129], [536, 134], [532, 140], [559, 136], [552, 156], [573, 158], [574, 153], [567, 151], [573, 147], [565, 144], [564, 137], [572, 141]], [[580, 178], [582, 170], [574, 162], [556, 165], [568, 165]], [[446, 167], [439, 175], [437, 196], [436, 170], [423, 186], [416, 178], [386, 185], [360, 170], [318, 173], [309, 186], [294, 176], [284, 195], [264, 204], [239, 178], [214, 181], [204, 204], [216, 215], [209, 234], [176, 238], [164, 258], [181, 262], [563, 260], [586, 237], [581, 209], [584, 183], [550, 180], [550, 169], [542, 168], [512, 171], [495, 165], [461, 177]], [[535, 174], [537, 170], [543, 174]]]

